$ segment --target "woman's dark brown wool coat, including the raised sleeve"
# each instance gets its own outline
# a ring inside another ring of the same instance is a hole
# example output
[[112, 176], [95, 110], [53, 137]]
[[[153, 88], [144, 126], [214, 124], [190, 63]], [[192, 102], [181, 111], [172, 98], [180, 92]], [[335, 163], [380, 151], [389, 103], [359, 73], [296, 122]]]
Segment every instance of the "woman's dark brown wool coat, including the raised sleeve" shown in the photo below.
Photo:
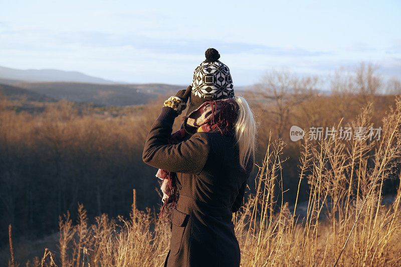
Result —
[[247, 170], [239, 164], [235, 137], [197, 132], [167, 144], [177, 113], [163, 107], [146, 138], [143, 161], [177, 172], [179, 199], [172, 212], [166, 266], [239, 266], [240, 247], [232, 212], [244, 198]]

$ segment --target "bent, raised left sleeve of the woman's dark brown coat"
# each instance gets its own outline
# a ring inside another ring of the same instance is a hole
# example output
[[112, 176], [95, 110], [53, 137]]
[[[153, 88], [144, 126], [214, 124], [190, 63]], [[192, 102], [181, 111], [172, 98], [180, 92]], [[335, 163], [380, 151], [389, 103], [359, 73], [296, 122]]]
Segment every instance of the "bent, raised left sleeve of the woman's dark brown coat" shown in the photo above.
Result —
[[168, 144], [177, 112], [163, 107], [152, 124], [143, 149], [143, 161], [166, 171], [199, 174], [208, 159], [210, 144], [207, 134], [198, 132], [179, 144]]

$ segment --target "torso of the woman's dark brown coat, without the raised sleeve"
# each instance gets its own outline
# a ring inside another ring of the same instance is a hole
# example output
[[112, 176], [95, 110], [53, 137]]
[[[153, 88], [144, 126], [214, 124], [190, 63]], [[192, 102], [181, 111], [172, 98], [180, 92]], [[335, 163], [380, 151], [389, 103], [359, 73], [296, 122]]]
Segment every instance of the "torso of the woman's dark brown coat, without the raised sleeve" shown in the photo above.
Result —
[[247, 170], [241, 168], [233, 137], [205, 132], [193, 137], [209, 150], [202, 170], [177, 173], [179, 197], [166, 266], [239, 266], [232, 212], [242, 204], [252, 161]]

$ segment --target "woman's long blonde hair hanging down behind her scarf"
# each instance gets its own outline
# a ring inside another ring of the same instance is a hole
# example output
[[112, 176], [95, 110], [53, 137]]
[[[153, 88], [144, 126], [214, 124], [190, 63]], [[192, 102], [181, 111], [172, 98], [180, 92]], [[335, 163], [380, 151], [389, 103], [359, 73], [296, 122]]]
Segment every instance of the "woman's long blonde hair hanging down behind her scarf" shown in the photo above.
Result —
[[243, 97], [234, 97], [240, 110], [235, 124], [235, 136], [240, 150], [240, 165], [245, 169], [250, 158], [255, 161], [256, 123], [254, 114]]

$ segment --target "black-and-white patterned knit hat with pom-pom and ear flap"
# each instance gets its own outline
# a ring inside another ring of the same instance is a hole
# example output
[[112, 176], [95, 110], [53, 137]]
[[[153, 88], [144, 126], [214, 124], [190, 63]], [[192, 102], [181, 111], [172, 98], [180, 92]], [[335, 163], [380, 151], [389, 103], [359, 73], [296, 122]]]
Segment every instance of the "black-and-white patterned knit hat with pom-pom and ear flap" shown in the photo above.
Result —
[[184, 118], [183, 127], [188, 132], [186, 121], [189, 115], [205, 102], [234, 97], [233, 79], [230, 69], [221, 61], [220, 54], [214, 48], [205, 52], [206, 60], [193, 72], [192, 90]]

